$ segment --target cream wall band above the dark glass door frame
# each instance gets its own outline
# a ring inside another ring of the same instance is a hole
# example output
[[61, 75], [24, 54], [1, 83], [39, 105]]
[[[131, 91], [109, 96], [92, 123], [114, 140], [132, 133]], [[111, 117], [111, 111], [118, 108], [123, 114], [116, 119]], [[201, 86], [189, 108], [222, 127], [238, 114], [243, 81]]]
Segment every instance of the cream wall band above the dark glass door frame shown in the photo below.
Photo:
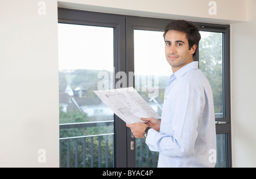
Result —
[[238, 22], [247, 20], [247, 0], [214, 0], [217, 15], [209, 14], [211, 0], [60, 0], [59, 7], [102, 13], [153, 18], [195, 20], [197, 22]]

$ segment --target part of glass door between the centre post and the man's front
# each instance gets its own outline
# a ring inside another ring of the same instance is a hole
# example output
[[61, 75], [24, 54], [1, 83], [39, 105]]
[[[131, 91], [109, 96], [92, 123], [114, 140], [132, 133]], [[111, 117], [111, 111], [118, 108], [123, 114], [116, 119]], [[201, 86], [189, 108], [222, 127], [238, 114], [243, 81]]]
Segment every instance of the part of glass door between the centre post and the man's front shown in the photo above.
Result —
[[[134, 72], [134, 88], [160, 116], [164, 90], [172, 74], [164, 55], [163, 28], [168, 22], [170, 20], [135, 17], [126, 20], [126, 43], [130, 44], [127, 71]], [[159, 153], [150, 151], [144, 138], [130, 140], [135, 143], [134, 153], [129, 157], [131, 167], [158, 166]]]

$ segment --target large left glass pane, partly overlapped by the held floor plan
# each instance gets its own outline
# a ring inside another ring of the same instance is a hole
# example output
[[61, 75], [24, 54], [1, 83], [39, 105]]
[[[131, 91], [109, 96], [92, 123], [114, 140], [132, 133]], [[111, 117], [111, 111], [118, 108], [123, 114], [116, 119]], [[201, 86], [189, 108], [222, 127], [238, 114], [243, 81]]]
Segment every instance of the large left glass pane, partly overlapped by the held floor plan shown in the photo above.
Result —
[[59, 23], [60, 167], [113, 167], [114, 114], [93, 93], [113, 88], [113, 30]]

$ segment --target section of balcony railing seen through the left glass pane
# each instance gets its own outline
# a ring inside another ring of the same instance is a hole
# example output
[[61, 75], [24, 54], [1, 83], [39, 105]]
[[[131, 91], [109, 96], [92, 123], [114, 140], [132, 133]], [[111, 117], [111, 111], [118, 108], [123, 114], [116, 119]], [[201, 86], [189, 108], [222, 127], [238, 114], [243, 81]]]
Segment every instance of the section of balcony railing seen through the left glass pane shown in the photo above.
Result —
[[[60, 130], [113, 125], [113, 120], [68, 123], [60, 124]], [[113, 144], [114, 133], [60, 138], [60, 167], [114, 167]]]

